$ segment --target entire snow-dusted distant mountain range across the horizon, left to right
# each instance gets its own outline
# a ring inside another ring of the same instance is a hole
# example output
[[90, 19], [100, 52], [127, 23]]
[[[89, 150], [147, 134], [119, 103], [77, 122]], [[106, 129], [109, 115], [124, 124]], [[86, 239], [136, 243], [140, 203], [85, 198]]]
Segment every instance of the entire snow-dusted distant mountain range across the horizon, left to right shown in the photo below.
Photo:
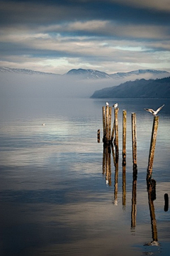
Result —
[[[23, 68], [7, 68], [7, 67], [0, 67], [0, 73], [19, 73], [19, 74], [27, 74], [27, 75], [59, 75], [56, 73], [45, 73], [40, 71], [28, 70]], [[164, 70], [134, 70], [127, 73], [114, 73], [114, 74], [107, 74], [102, 71], [92, 70], [92, 69], [72, 69], [69, 72], [65, 73], [65, 77], [74, 77], [80, 80], [98, 80], [98, 79], [110, 79], [110, 80], [118, 80], [125, 78], [125, 80], [130, 80], [131, 77], [133, 78], [146, 78], [145, 76], [148, 75], [149, 78], [157, 79], [157, 78], [166, 78], [170, 75], [169, 72]], [[133, 79], [134, 80], [134, 79]]]

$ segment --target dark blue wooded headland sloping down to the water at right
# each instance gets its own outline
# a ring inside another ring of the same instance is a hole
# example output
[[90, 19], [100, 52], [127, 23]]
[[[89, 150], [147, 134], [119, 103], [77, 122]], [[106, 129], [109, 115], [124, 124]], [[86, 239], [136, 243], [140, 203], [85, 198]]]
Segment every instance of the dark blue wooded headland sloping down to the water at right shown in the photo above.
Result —
[[135, 80], [97, 90], [92, 98], [170, 98], [170, 77]]

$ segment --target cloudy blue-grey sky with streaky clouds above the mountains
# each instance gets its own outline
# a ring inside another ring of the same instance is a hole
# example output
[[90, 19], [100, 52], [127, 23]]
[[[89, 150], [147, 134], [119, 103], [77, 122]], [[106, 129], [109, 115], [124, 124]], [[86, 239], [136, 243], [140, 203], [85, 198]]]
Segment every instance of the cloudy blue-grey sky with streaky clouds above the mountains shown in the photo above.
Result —
[[0, 66], [170, 71], [170, 0], [0, 0]]

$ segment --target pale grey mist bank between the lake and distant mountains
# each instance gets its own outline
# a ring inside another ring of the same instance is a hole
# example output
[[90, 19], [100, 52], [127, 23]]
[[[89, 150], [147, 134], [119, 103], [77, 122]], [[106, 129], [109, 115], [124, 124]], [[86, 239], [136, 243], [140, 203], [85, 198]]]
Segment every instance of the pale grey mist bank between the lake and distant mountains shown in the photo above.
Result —
[[[0, 74], [0, 98], [91, 97], [94, 91], [120, 85], [127, 80], [150, 79], [151, 75], [134, 75], [123, 79], [78, 80], [64, 75]], [[161, 78], [161, 77], [160, 77]]]

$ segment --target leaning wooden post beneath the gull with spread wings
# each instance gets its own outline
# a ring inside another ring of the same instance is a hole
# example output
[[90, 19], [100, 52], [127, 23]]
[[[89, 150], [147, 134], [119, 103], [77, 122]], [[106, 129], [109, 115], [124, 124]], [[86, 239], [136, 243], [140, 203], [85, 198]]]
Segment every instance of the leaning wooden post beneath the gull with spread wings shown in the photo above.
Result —
[[153, 162], [154, 162], [154, 149], [157, 141], [158, 124], [159, 124], [159, 117], [154, 116], [154, 122], [152, 127], [152, 137], [151, 137], [150, 150], [149, 150], [149, 160], [148, 160], [148, 166], [147, 166], [147, 179], [151, 178], [152, 176], [152, 168], [153, 168]]

